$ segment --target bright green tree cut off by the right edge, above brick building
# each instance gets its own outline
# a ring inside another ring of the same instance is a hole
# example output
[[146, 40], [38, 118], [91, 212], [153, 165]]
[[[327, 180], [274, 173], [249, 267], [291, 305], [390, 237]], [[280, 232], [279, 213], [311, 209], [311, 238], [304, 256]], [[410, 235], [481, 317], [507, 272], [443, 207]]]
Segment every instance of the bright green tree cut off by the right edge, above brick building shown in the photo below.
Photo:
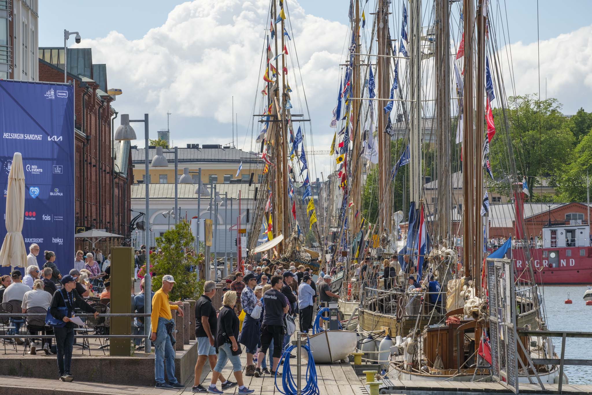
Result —
[[581, 139], [570, 159], [558, 176], [558, 191], [565, 201], [586, 201], [586, 175], [592, 175], [592, 130]]

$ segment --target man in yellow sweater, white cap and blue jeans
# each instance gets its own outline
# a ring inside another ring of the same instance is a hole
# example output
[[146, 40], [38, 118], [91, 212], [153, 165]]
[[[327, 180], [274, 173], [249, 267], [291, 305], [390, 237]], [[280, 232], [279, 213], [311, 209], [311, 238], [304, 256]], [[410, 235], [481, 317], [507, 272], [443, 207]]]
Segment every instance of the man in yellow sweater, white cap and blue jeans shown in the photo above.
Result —
[[[154, 374], [156, 379], [156, 388], [185, 388], [175, 377], [175, 349], [173, 348], [172, 336], [175, 333], [175, 320], [170, 313], [170, 309], [177, 310], [179, 315], [183, 316], [183, 302], [169, 302], [169, 292], [173, 289], [175, 280], [170, 274], [163, 275], [162, 288], [156, 291], [152, 297], [152, 335], [150, 340], [154, 343], [155, 361]], [[165, 381], [165, 359], [166, 359], [166, 377], [169, 383]]]

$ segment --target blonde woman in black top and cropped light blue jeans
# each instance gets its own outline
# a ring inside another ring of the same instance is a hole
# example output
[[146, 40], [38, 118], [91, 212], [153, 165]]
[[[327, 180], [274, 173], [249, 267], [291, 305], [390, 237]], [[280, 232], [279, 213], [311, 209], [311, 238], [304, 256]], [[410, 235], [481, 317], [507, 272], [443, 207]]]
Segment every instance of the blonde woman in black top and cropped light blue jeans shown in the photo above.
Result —
[[[223, 391], [216, 388], [216, 381], [220, 373], [230, 359], [234, 371], [234, 377], [239, 384], [239, 394], [251, 394], [255, 390], [249, 390], [243, 383], [243, 368], [240, 365], [240, 351], [236, 339], [239, 336], [239, 317], [234, 313], [236, 304], [236, 292], [228, 291], [222, 300], [222, 309], [218, 314], [218, 327], [215, 335], [215, 346], [218, 348], [218, 362], [212, 372], [212, 383], [208, 387], [211, 394], [223, 394]], [[233, 355], [234, 354], [234, 355]]]

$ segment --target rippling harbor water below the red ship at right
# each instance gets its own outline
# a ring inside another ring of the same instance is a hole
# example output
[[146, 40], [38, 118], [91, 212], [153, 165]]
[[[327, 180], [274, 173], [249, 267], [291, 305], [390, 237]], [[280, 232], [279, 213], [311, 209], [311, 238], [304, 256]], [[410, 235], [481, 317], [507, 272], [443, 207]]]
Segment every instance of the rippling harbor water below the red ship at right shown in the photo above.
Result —
[[[583, 299], [585, 286], [546, 285], [541, 293], [545, 300], [547, 322], [550, 330], [592, 331], [592, 306]], [[565, 304], [569, 298], [572, 304]], [[592, 359], [592, 339], [565, 339], [566, 359]], [[561, 338], [553, 338], [555, 352], [561, 356]], [[591, 384], [592, 366], [565, 366], [570, 384]]]

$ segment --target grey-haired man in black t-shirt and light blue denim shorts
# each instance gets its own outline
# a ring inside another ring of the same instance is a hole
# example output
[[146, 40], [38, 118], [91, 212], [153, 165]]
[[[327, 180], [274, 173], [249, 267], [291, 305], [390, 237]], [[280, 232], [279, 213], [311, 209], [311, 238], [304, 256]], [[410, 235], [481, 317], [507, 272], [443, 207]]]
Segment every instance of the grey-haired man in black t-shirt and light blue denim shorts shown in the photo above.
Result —
[[[214, 370], [218, 358], [214, 347], [213, 331], [216, 330], [218, 319], [216, 309], [212, 304], [212, 298], [216, 293], [216, 283], [206, 281], [204, 283], [204, 294], [195, 303], [195, 338], [197, 339], [197, 362], [195, 364], [195, 379], [192, 391], [195, 393], [207, 393], [207, 388], [201, 386], [201, 370], [205, 360], [210, 360], [210, 368]], [[236, 383], [227, 381], [220, 376], [222, 390], [236, 386]]]

